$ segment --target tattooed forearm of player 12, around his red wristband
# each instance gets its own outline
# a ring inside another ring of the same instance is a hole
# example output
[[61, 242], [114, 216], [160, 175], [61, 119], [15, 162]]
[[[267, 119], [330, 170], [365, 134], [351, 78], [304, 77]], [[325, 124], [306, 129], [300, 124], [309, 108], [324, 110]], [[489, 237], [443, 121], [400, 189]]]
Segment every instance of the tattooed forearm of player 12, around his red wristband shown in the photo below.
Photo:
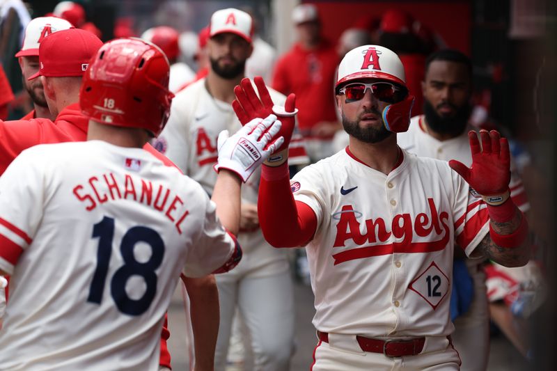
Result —
[[[490, 221], [490, 223], [494, 232], [497, 232], [499, 235], [510, 235], [517, 230], [522, 218], [524, 218], [524, 215], [521, 212], [517, 212], [510, 221], [504, 223]], [[507, 248], [495, 244], [488, 234], [478, 244], [475, 255], [481, 253], [505, 267], [521, 267], [530, 259], [530, 250], [529, 239], [526, 239], [519, 246]]]

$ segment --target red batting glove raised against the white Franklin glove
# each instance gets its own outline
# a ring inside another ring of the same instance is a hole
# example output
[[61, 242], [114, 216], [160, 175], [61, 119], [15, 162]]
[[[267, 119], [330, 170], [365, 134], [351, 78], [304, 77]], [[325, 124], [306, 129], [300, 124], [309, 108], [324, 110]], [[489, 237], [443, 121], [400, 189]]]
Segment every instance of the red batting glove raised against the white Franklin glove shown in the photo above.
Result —
[[296, 95], [288, 95], [285, 106], [277, 106], [273, 103], [262, 77], [255, 77], [253, 82], [256, 84], [259, 97], [253, 89], [251, 81], [247, 78], [242, 79], [240, 85], [234, 88], [236, 99], [232, 102], [232, 106], [242, 125], [245, 125], [254, 118], [267, 117], [270, 114], [278, 116], [282, 123], [278, 136], [283, 136], [284, 143], [277, 148], [276, 152], [266, 162], [267, 165], [278, 166], [283, 164], [287, 158], [288, 145], [294, 132], [295, 116], [298, 112], [295, 108]]

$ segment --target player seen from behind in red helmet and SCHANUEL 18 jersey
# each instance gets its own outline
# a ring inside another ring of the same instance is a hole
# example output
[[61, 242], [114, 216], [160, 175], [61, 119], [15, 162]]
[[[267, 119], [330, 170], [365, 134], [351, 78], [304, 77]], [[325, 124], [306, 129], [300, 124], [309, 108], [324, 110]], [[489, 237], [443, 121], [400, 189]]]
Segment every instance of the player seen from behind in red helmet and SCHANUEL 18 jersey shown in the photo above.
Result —
[[155, 45], [108, 42], [81, 88], [88, 141], [25, 150], [0, 178], [0, 273], [13, 289], [1, 370], [157, 370], [180, 271], [240, 261], [240, 184], [283, 143], [281, 124], [219, 134], [210, 200], [142, 149], [168, 120], [168, 71]]

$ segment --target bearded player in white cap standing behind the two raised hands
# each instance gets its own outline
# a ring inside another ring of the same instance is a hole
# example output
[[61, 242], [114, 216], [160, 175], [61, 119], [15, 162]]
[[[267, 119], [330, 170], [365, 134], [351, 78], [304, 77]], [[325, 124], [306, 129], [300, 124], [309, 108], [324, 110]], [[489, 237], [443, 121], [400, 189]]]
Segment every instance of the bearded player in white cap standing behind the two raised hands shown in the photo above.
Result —
[[[175, 97], [171, 115], [155, 148], [212, 194], [216, 176], [217, 136], [223, 129], [242, 127], [231, 102], [234, 87], [244, 77], [244, 65], [253, 49], [252, 19], [235, 8], [215, 12], [210, 21], [207, 54], [210, 69]], [[285, 97], [271, 90], [279, 104]], [[271, 111], [267, 112], [267, 117]], [[297, 142], [300, 143], [300, 142]], [[292, 146], [291, 164], [304, 160], [303, 147]], [[226, 367], [226, 355], [236, 308], [250, 334], [255, 370], [288, 370], [293, 349], [294, 302], [292, 278], [285, 251], [269, 246], [259, 228], [257, 195], [259, 173], [242, 188], [242, 219], [238, 241], [244, 259], [234, 271], [216, 277], [219, 287], [220, 325], [216, 370]], [[272, 336], [269, 336], [272, 334]]]

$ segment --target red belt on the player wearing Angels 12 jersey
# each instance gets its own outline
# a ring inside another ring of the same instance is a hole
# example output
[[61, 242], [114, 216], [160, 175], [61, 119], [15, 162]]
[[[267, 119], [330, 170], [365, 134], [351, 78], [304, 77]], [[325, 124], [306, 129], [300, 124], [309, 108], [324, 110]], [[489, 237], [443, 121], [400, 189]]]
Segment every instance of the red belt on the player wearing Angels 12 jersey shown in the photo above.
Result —
[[[329, 333], [317, 331], [319, 340], [329, 342]], [[415, 356], [420, 354], [425, 338], [410, 340], [379, 340], [356, 335], [356, 340], [363, 352], [382, 353], [388, 357]]]

